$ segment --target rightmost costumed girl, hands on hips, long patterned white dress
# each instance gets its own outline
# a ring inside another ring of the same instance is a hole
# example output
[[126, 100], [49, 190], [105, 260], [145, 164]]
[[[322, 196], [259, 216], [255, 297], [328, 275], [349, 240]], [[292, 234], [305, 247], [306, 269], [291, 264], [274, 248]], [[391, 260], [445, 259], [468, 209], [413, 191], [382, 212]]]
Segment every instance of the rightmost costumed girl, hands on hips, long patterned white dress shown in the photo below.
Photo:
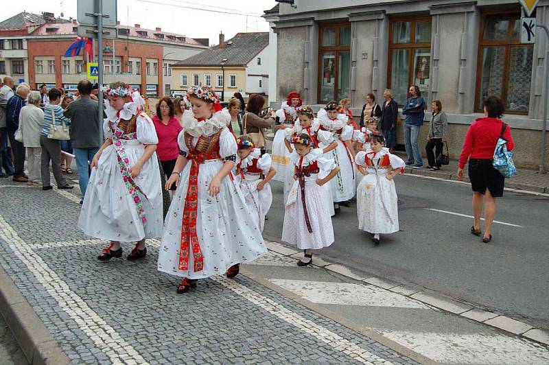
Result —
[[371, 148], [356, 154], [356, 164], [364, 178], [357, 188], [358, 228], [372, 233], [379, 244], [379, 234], [399, 231], [397, 191], [393, 178], [404, 173], [404, 161], [384, 148], [382, 134], [374, 132]]

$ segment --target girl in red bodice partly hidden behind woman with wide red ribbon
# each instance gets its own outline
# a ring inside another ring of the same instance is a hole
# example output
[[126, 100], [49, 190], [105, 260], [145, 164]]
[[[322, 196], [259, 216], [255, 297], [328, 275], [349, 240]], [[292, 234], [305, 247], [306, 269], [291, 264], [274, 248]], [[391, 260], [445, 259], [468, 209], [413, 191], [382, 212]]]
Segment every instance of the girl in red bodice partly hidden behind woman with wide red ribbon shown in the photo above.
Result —
[[277, 174], [277, 170], [271, 166], [272, 161], [268, 154], [261, 156], [261, 150], [254, 148], [250, 137], [240, 136], [236, 143], [238, 150], [235, 183], [246, 198], [255, 224], [263, 232], [265, 215], [272, 203], [269, 181]]

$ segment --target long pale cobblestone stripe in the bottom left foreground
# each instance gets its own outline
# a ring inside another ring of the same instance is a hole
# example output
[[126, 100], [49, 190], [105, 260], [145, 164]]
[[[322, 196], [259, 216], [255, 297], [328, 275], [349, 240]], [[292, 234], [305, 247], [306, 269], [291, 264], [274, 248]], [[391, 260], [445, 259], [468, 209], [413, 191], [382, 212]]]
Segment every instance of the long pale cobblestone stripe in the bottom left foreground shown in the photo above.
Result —
[[25, 266], [34, 274], [40, 285], [56, 300], [58, 305], [78, 327], [89, 336], [97, 349], [101, 349], [111, 362], [121, 363], [127, 360], [145, 362], [143, 357], [110, 327], [48, 264], [32, 250], [19, 234], [5, 222], [0, 215], [0, 238], [3, 239]]

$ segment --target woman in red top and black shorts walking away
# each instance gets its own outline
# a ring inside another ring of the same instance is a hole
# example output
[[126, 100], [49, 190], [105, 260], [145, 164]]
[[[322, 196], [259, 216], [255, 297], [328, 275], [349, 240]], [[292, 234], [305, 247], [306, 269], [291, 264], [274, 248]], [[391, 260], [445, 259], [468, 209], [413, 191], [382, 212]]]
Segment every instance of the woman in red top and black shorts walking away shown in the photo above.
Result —
[[[465, 134], [463, 149], [459, 158], [458, 178], [463, 179], [463, 167], [469, 159], [469, 180], [473, 189], [474, 222], [471, 233], [480, 236], [482, 242], [492, 239], [491, 228], [495, 217], [495, 198], [503, 196], [504, 176], [493, 167], [495, 146], [500, 137], [505, 139], [509, 151], [515, 148], [511, 128], [500, 118], [503, 102], [500, 97], [491, 95], [482, 103], [484, 117], [471, 124]], [[484, 204], [484, 232], [480, 231], [480, 215]]]

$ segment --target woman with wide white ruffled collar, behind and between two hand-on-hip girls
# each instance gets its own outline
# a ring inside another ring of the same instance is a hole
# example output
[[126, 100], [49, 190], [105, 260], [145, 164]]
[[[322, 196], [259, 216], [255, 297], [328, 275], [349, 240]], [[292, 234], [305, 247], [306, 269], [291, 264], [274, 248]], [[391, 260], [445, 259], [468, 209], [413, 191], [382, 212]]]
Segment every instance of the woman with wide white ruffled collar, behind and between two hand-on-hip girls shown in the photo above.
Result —
[[355, 196], [355, 169], [353, 166], [353, 155], [344, 142], [356, 139], [360, 133], [353, 130], [347, 124], [347, 115], [339, 113], [339, 105], [336, 102], [329, 102], [318, 112], [320, 129], [331, 132], [338, 146], [326, 154], [326, 158], [334, 158], [340, 172], [331, 182], [331, 196], [334, 200], [336, 213], [340, 211], [340, 204], [349, 205], [349, 200]]

